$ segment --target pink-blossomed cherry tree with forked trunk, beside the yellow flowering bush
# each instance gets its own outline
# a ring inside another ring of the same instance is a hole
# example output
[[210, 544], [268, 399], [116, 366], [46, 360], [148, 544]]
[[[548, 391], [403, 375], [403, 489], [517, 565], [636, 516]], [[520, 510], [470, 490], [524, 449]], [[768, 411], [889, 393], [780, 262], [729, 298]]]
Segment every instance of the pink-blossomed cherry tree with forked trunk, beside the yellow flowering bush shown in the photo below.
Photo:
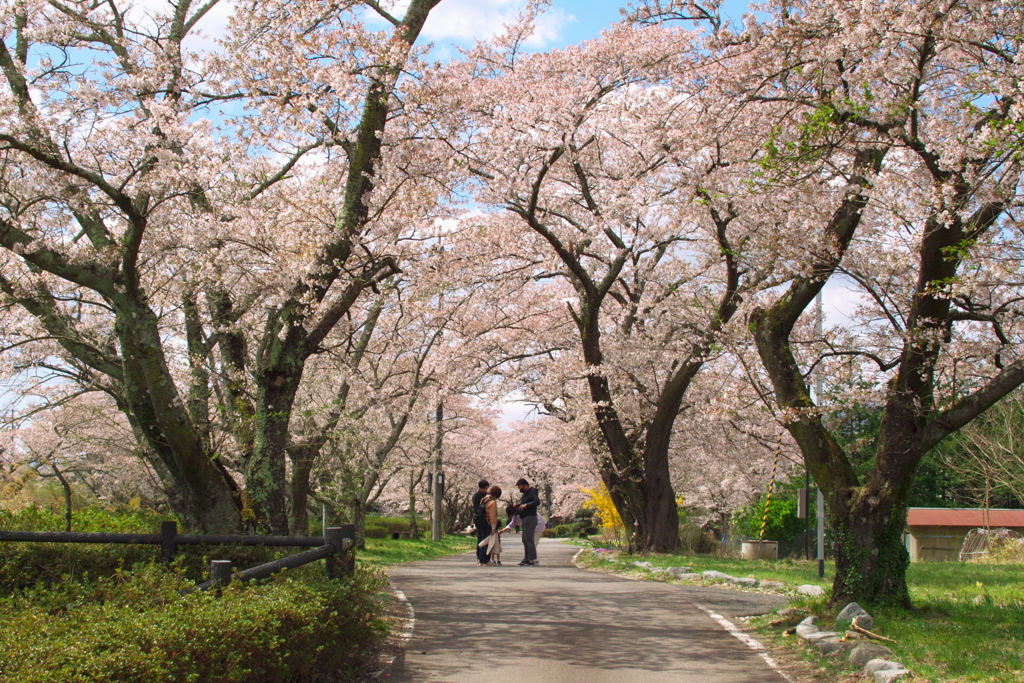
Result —
[[572, 418], [600, 434], [631, 547], [673, 550], [673, 427], [763, 279], [731, 201], [730, 166], [750, 151], [715, 127], [692, 34], [623, 26], [539, 55], [510, 35], [471, 73], [453, 70], [472, 84], [452, 109], [476, 113], [463, 154], [477, 200], [502, 211], [481, 224], [504, 246], [500, 262], [560, 291], [575, 335], [562, 375], [585, 383], [588, 403]]

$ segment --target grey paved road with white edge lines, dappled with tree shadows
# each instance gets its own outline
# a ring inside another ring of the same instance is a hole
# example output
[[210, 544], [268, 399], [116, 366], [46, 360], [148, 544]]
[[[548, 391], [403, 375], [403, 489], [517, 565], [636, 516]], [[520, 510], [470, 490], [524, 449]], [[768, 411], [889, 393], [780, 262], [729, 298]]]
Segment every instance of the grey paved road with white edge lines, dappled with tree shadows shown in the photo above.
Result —
[[391, 569], [416, 626], [392, 668], [401, 683], [783, 683], [696, 604], [726, 618], [781, 598], [638, 582], [577, 569], [579, 547], [545, 539], [541, 566], [501, 567], [472, 554]]

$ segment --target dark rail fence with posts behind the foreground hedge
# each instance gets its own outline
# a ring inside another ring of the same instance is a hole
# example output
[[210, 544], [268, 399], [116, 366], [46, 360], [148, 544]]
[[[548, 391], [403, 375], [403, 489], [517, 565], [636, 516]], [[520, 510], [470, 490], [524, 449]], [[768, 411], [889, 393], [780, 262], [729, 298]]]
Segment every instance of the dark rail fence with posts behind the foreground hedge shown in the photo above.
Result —
[[328, 575], [337, 579], [355, 571], [355, 525], [344, 524], [324, 530], [324, 536], [232, 536], [178, 533], [174, 521], [161, 524], [160, 533], [102, 533], [85, 531], [0, 531], [0, 542], [7, 543], [119, 543], [160, 546], [165, 561], [173, 559], [178, 546], [276, 546], [311, 548], [272, 562], [234, 573], [230, 560], [212, 560], [210, 580], [194, 590], [207, 590], [231, 581], [266, 579], [316, 560], [327, 560]]

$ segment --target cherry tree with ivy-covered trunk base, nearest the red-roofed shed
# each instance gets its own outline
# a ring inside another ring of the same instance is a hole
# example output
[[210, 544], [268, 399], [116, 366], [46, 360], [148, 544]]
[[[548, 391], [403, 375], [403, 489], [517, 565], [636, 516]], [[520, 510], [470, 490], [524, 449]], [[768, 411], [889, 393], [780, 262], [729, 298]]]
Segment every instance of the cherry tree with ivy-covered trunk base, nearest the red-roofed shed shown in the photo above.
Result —
[[[647, 19], [667, 8], [648, 6]], [[826, 497], [833, 602], [908, 604], [902, 532], [916, 466], [1024, 382], [1013, 213], [1024, 14], [987, 2], [766, 11], [739, 35], [713, 26], [706, 42], [719, 67], [708, 96], [725, 103], [723, 120], [757, 119], [768, 132], [748, 187], [787, 284], [760, 298], [751, 329], [771, 398]], [[859, 306], [822, 338], [804, 314], [830, 279]], [[811, 397], [818, 366], [857, 378], [849, 386], [883, 407], [863, 476], [828, 404]]]

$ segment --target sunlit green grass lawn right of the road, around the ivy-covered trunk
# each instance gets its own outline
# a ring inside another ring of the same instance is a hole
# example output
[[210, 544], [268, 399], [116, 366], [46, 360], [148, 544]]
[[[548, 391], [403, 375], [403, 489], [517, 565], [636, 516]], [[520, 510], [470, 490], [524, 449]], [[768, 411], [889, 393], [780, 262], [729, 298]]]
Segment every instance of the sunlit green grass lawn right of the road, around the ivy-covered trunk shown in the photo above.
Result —
[[[622, 556], [609, 561], [603, 553], [585, 553], [581, 561], [594, 568], [612, 570], [652, 581], [671, 581], [666, 574], [651, 574], [631, 564], [635, 560], [655, 567], [685, 565], [691, 571], [715, 569], [733, 577], [759, 581], [779, 581], [787, 589], [815, 584], [830, 591], [833, 568], [825, 566], [824, 579], [817, 577], [815, 560], [753, 562], [707, 556], [646, 555]], [[914, 674], [914, 681], [933, 683], [1024, 683], [1024, 565], [961, 564], [957, 562], [915, 562], [907, 572], [913, 608], [905, 611], [864, 605], [876, 618], [876, 631], [892, 638], [886, 643]], [[701, 580], [698, 585], [715, 582]], [[822, 617], [824, 626], [835, 616], [825, 599], [794, 596], [794, 605], [810, 609]], [[770, 617], [752, 622], [767, 628]], [[798, 639], [778, 639], [803, 647]], [[816, 652], [813, 655], [818, 659]], [[828, 666], [839, 672], [841, 667]]]

